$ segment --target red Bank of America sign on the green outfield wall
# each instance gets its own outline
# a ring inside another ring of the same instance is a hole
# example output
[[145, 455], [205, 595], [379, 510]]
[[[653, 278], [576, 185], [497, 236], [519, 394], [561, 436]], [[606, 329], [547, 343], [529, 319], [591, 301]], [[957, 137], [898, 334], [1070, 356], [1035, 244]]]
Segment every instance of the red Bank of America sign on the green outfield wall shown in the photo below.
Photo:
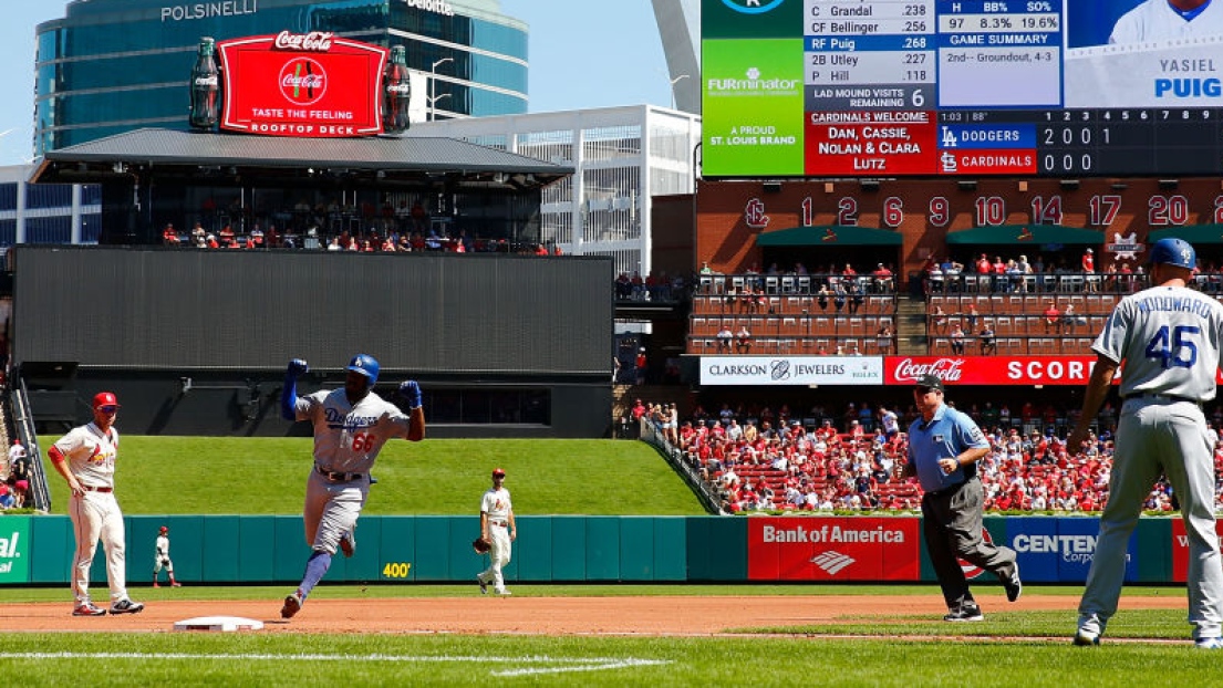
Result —
[[921, 521], [812, 517], [747, 521], [750, 580], [917, 580]]

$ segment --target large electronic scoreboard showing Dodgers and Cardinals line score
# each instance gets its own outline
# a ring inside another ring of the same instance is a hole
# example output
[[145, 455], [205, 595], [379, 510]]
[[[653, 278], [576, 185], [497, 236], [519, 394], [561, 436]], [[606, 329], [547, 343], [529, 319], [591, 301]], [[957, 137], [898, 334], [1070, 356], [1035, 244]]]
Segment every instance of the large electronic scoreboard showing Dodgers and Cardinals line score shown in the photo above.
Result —
[[703, 174], [1223, 174], [1223, 7], [1164, 11], [703, 0]]

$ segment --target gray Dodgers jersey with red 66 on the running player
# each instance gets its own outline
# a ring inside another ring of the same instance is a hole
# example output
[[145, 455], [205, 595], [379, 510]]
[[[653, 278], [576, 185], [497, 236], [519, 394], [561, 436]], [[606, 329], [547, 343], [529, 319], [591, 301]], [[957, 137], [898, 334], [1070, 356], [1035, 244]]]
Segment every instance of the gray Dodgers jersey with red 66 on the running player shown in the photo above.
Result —
[[407, 437], [411, 420], [369, 392], [357, 406], [344, 389], [297, 397], [298, 420], [314, 424], [314, 464], [325, 470], [368, 473], [386, 440]]

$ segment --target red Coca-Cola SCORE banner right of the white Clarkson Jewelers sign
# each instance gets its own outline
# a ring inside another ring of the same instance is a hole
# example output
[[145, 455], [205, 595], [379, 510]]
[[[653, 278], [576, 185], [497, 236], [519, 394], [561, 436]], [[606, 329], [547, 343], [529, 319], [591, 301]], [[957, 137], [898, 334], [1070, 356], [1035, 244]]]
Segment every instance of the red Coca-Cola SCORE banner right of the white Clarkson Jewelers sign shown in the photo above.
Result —
[[956, 385], [1084, 385], [1095, 356], [889, 356], [883, 359], [889, 385], [912, 385], [937, 375]]

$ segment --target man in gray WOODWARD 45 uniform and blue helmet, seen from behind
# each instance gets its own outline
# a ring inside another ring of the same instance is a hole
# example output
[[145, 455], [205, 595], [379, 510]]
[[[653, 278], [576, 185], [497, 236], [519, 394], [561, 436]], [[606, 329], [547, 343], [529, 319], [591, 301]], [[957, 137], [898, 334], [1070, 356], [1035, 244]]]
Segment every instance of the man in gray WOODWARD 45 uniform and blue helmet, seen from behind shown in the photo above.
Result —
[[1214, 464], [1201, 403], [1214, 398], [1223, 341], [1223, 304], [1186, 288], [1196, 254], [1179, 238], [1151, 249], [1151, 288], [1123, 298], [1096, 337], [1096, 367], [1082, 415], [1066, 440], [1082, 447], [1090, 419], [1121, 369], [1120, 423], [1099, 518], [1096, 555], [1079, 602], [1075, 645], [1096, 645], [1117, 612], [1125, 577], [1125, 547], [1142, 499], [1163, 472], [1180, 500], [1189, 536], [1189, 622], [1199, 648], [1221, 649], [1223, 563], [1214, 530]]

